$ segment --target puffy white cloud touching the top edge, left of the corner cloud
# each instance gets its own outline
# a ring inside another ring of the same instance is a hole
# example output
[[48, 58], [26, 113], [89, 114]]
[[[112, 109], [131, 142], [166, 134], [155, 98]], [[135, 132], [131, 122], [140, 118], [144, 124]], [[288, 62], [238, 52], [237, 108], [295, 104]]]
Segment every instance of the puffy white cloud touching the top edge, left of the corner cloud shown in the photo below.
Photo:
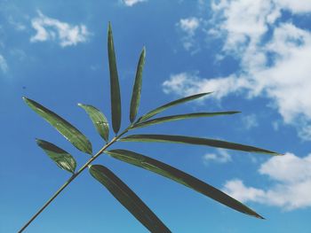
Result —
[[273, 23], [279, 16], [270, 0], [221, 0], [211, 3], [214, 12], [213, 30], [226, 35], [225, 50], [240, 50], [236, 45], [256, 43], [267, 32], [267, 22]]

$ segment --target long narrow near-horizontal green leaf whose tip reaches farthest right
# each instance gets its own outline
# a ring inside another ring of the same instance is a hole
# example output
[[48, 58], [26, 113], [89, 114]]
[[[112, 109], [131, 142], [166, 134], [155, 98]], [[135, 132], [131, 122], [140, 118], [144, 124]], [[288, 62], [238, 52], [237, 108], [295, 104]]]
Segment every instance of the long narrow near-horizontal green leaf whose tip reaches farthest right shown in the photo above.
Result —
[[235, 144], [226, 141], [220, 141], [210, 138], [194, 137], [194, 136], [171, 136], [171, 135], [132, 135], [119, 139], [122, 142], [160, 142], [160, 143], [179, 143], [179, 144], [198, 144], [207, 145], [236, 151], [247, 151], [256, 153], [267, 153], [272, 155], [280, 155], [275, 151], [268, 151], [251, 145]]

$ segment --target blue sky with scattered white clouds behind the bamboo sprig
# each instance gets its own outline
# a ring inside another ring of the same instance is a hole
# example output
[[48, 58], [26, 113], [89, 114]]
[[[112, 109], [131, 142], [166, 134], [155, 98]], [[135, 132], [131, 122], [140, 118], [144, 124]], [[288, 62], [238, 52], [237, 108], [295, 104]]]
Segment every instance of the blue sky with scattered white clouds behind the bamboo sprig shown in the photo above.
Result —
[[[36, 146], [59, 145], [88, 159], [25, 105], [26, 96], [72, 122], [102, 146], [77, 103], [110, 120], [107, 27], [114, 31], [129, 123], [140, 50], [147, 49], [140, 114], [178, 97], [214, 91], [163, 115], [243, 113], [142, 128], [141, 133], [214, 137], [285, 154], [182, 144], [120, 143], [226, 191], [267, 218], [237, 213], [177, 183], [104, 155], [111, 168], [172, 232], [310, 232], [311, 1], [0, 0], [0, 232], [16, 232], [69, 174]], [[112, 135], [111, 135], [112, 136]], [[25, 232], [147, 232], [84, 172]]]

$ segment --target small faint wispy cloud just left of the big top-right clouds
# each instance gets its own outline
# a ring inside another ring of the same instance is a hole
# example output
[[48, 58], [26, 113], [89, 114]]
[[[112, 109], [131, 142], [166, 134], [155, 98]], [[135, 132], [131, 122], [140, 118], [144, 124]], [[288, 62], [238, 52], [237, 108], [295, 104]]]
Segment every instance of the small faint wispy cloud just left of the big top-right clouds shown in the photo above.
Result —
[[[190, 50], [195, 48], [195, 31], [200, 27], [201, 19], [190, 17], [186, 19], [180, 19], [177, 23], [177, 27], [185, 34], [181, 38], [181, 42], [185, 50]], [[195, 48], [198, 50], [198, 48]]]

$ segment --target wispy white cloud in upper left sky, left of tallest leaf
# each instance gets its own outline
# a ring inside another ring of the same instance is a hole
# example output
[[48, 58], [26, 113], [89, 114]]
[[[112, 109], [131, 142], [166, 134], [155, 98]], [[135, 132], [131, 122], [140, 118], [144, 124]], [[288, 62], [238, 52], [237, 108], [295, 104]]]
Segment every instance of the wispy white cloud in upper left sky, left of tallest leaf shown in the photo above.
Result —
[[57, 41], [61, 47], [84, 43], [90, 33], [82, 24], [73, 26], [59, 19], [52, 19], [38, 12], [38, 17], [31, 20], [31, 25], [36, 29], [36, 35], [30, 38], [30, 42]]

